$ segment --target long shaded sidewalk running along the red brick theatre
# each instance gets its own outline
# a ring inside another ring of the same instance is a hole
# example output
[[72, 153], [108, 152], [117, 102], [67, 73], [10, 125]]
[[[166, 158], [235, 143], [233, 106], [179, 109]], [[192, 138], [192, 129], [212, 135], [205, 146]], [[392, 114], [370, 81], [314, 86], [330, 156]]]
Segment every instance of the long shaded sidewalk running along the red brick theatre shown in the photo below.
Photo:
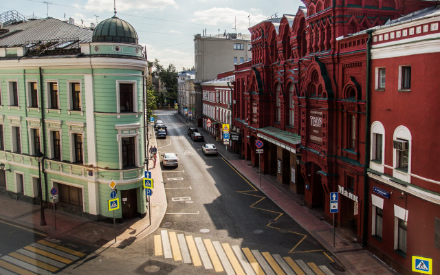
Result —
[[[182, 122], [184, 117], [176, 114]], [[197, 127], [201, 129], [201, 127]], [[351, 274], [356, 275], [380, 275], [380, 274], [398, 274], [390, 267], [385, 265], [380, 259], [371, 254], [368, 250], [362, 248], [358, 243], [349, 243], [344, 237], [336, 234], [336, 247], [333, 248], [333, 227], [319, 220], [309, 212], [309, 208], [300, 206], [298, 199], [292, 199], [284, 192], [278, 189], [274, 184], [267, 181], [265, 177], [261, 177], [261, 187], [259, 184], [259, 173], [251, 166], [245, 163], [238, 155], [232, 151], [226, 152], [223, 142], [217, 142], [210, 137], [205, 131], [204, 137], [206, 142], [215, 144], [217, 151], [225, 157], [226, 161], [231, 164], [239, 173], [241, 173], [248, 181], [252, 182], [256, 188], [259, 188], [267, 197], [272, 199], [283, 211], [285, 211], [292, 219], [299, 223], [311, 236], [314, 236], [322, 245], [338, 259], [345, 269]], [[227, 157], [226, 157], [227, 154]]]

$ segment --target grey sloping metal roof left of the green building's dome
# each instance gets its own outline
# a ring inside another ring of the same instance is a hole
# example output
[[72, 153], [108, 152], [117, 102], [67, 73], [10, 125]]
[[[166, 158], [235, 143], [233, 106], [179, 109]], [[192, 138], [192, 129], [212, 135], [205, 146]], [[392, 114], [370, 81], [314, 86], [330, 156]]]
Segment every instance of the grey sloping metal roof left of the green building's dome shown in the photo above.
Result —
[[67, 22], [54, 19], [28, 20], [4, 27], [10, 30], [0, 36], [0, 47], [25, 45], [28, 41], [79, 38], [80, 43], [91, 42], [93, 32]]

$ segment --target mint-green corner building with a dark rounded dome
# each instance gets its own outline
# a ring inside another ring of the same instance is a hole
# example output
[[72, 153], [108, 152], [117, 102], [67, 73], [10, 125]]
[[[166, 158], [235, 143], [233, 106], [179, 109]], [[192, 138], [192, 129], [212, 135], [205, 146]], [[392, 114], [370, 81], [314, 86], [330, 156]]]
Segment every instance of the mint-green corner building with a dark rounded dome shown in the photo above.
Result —
[[146, 54], [118, 17], [94, 31], [54, 18], [0, 29], [0, 194], [38, 203], [58, 189], [57, 208], [90, 219], [143, 217]]

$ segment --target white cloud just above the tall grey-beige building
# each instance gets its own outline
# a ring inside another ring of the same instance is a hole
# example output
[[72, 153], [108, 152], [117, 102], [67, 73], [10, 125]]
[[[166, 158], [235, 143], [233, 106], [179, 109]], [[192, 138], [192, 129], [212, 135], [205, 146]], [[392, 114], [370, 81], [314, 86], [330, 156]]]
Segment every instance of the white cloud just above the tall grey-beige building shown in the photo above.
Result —
[[[209, 10], [197, 10], [193, 15], [194, 19], [191, 19], [193, 22], [201, 22], [208, 25], [229, 25], [230, 28], [234, 28], [236, 20], [236, 28], [241, 30], [248, 30], [249, 23], [252, 26], [267, 18], [265, 15], [260, 14], [258, 10], [246, 12], [245, 10], [234, 10], [232, 8], [210, 8]], [[250, 17], [248, 18], [248, 16]]]

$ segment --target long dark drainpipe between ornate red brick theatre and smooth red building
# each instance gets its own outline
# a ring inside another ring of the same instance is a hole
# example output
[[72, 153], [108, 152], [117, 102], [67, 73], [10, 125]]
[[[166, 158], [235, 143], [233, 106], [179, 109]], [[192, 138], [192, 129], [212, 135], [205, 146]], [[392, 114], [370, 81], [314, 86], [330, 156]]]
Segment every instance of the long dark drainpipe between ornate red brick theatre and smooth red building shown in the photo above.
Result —
[[369, 34], [369, 39], [366, 41], [366, 84], [365, 84], [365, 160], [364, 160], [364, 226], [362, 229], [362, 247], [366, 245], [366, 237], [368, 236], [368, 225], [369, 219], [369, 176], [367, 174], [367, 169], [370, 164], [370, 147], [371, 147], [371, 125], [370, 125], [370, 67], [371, 67], [371, 38], [373, 30], [367, 30]]

